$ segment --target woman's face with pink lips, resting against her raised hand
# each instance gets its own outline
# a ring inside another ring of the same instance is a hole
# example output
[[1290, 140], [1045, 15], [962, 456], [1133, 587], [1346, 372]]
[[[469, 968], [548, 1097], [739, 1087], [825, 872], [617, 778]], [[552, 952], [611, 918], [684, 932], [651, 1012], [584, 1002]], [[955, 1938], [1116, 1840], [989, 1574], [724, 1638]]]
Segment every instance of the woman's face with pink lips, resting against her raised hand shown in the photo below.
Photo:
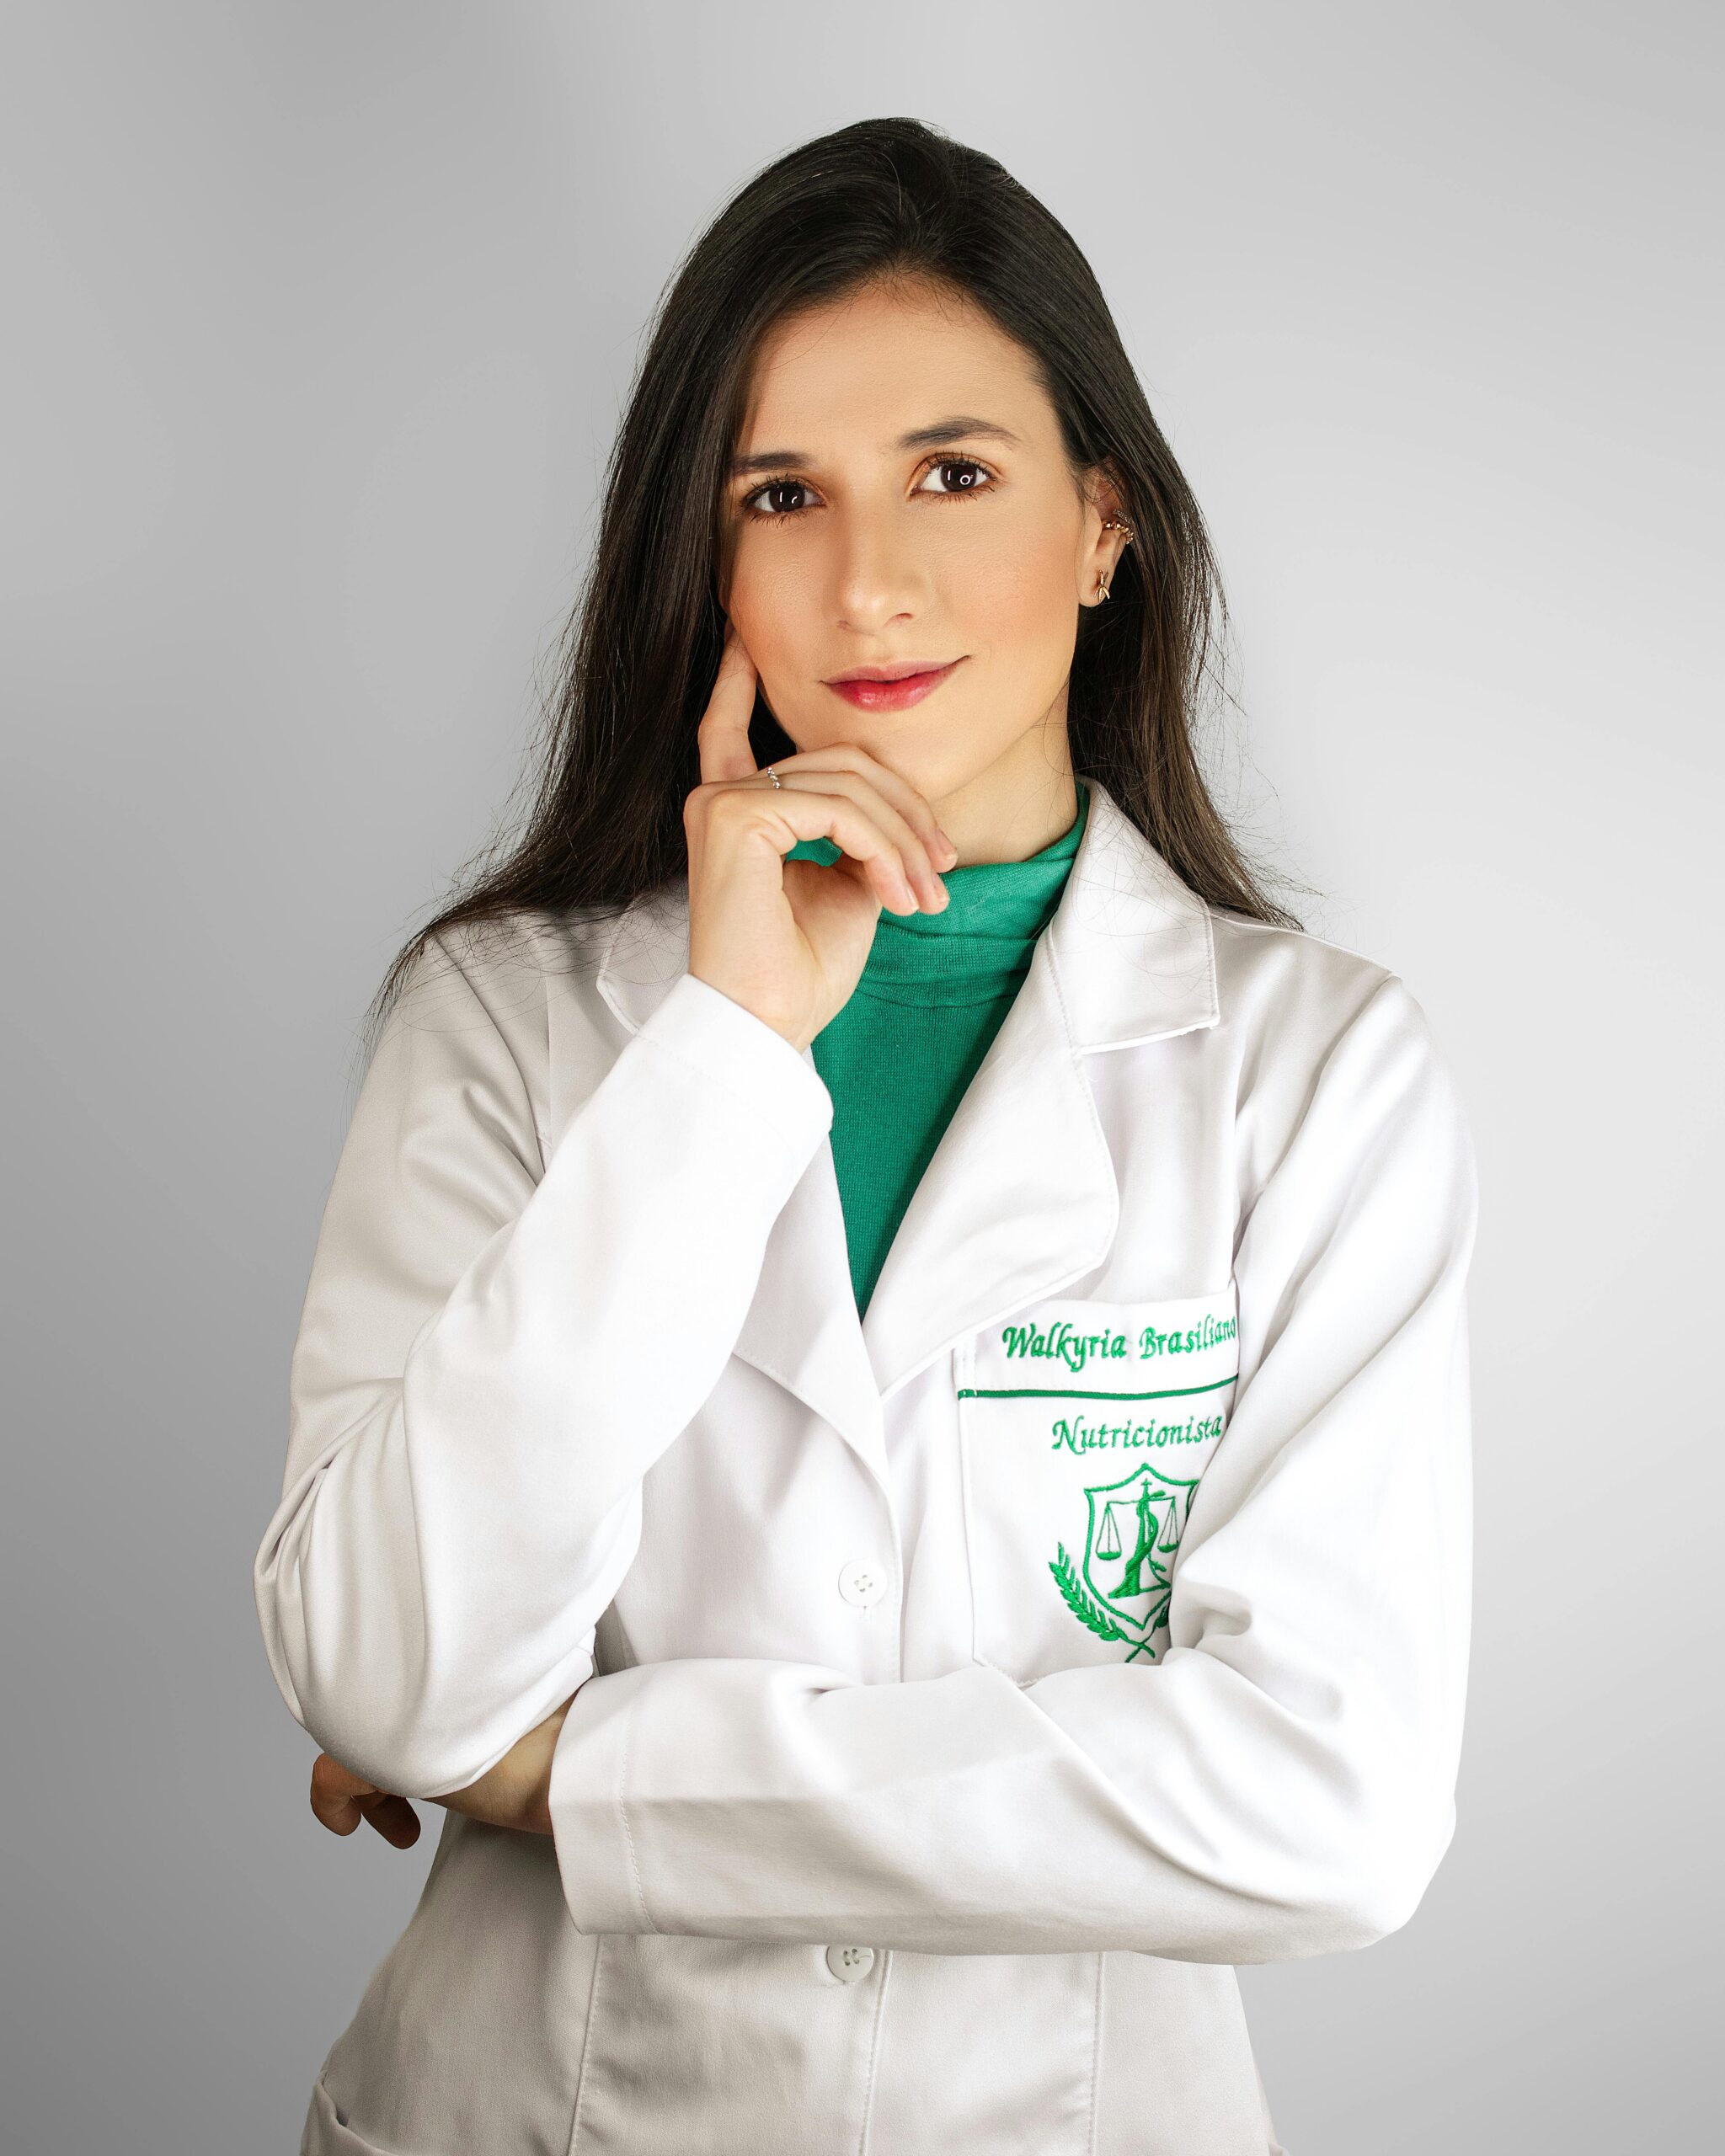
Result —
[[[942, 291], [869, 291], [763, 343], [722, 505], [720, 597], [800, 752], [854, 742], [934, 804], [960, 858], [1020, 858], [1076, 800], [1078, 608], [1121, 535], [1087, 500], [1024, 351]], [[953, 671], [858, 709], [858, 666]]]

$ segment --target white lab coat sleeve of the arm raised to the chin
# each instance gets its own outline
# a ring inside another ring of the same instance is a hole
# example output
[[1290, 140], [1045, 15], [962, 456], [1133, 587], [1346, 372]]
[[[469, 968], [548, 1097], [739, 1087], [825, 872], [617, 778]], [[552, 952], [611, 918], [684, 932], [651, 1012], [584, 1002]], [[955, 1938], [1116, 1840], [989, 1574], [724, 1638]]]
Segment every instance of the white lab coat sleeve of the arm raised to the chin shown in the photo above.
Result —
[[686, 972], [541, 1151], [522, 994], [433, 938], [390, 1013], [252, 1567], [295, 1720], [403, 1796], [466, 1787], [593, 1673], [640, 1479], [718, 1382], [832, 1119], [813, 1065]]

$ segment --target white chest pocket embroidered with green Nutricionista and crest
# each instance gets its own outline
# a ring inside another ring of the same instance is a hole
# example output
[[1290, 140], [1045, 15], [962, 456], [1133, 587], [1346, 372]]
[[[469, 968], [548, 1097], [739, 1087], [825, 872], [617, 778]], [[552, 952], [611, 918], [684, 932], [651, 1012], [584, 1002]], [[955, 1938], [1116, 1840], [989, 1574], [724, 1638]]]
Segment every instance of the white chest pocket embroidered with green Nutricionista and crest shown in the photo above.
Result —
[[1057, 1298], [957, 1352], [972, 1651], [1020, 1684], [1156, 1662], [1240, 1376], [1236, 1285]]

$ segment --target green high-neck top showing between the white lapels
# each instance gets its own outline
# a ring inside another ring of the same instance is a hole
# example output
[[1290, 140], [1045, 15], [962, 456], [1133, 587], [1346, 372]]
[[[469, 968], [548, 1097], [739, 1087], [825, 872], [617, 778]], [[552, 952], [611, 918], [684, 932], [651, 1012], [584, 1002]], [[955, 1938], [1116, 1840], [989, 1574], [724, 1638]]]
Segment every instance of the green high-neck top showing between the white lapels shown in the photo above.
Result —
[[[1031, 970], [1087, 813], [1080, 778], [1076, 819], [1039, 854], [949, 869], [951, 899], [940, 914], [882, 908], [862, 979], [811, 1044], [832, 1093], [832, 1164], [858, 1311], [867, 1311], [923, 1169]], [[785, 858], [830, 867], [839, 847], [804, 839]]]

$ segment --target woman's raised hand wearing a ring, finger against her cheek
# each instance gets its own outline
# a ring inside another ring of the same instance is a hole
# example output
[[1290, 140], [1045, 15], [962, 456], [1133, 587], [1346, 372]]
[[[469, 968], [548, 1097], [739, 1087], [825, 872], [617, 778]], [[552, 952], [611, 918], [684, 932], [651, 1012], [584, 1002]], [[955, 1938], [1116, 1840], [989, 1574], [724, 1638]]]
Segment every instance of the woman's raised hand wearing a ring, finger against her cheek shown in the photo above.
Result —
[[[684, 802], [688, 970], [806, 1048], [860, 981], [880, 908], [940, 912], [938, 869], [957, 849], [908, 780], [847, 742], [774, 763], [774, 787], [748, 746], [755, 688], [731, 625], [701, 720], [701, 785]], [[843, 858], [785, 860], [804, 839], [832, 839]]]

